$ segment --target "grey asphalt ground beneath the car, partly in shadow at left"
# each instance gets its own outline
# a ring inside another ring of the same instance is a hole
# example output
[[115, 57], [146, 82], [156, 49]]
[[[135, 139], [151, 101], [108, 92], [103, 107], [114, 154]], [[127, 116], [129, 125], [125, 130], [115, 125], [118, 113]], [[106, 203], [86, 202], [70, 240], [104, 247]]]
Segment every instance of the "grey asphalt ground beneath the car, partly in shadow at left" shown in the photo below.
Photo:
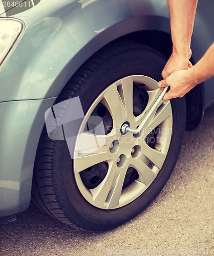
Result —
[[132, 221], [107, 232], [66, 226], [33, 203], [0, 227], [0, 255], [211, 255], [213, 248], [214, 106], [186, 132], [169, 181]]

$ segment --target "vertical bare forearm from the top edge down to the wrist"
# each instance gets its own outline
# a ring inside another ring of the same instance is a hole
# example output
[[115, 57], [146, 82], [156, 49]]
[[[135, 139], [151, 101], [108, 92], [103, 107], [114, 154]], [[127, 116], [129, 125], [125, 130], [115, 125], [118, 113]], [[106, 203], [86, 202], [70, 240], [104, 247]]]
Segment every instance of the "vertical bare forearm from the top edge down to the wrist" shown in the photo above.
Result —
[[173, 52], [188, 56], [198, 0], [168, 0]]

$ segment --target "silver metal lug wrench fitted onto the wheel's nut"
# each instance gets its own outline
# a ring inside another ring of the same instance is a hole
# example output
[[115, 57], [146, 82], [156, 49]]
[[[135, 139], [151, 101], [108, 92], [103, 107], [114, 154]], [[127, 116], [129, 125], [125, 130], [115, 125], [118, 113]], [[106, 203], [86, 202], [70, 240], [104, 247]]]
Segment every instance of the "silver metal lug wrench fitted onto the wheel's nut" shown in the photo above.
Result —
[[141, 122], [141, 124], [136, 128], [133, 129], [129, 126], [129, 124], [124, 123], [121, 127], [121, 132], [123, 134], [127, 133], [127, 132], [131, 132], [133, 134], [137, 134], [139, 132], [142, 131], [145, 123], [148, 121], [149, 117], [151, 117], [151, 115], [156, 111], [156, 109], [158, 108], [161, 100], [163, 99], [164, 95], [166, 94], [166, 92], [169, 90], [169, 87], [165, 87], [163, 89], [163, 91], [160, 93], [160, 95], [158, 96], [158, 98], [156, 99], [156, 101], [154, 102], [154, 104], [151, 106], [151, 108], [149, 109], [149, 111], [147, 112], [147, 114], [145, 115], [143, 121]]

